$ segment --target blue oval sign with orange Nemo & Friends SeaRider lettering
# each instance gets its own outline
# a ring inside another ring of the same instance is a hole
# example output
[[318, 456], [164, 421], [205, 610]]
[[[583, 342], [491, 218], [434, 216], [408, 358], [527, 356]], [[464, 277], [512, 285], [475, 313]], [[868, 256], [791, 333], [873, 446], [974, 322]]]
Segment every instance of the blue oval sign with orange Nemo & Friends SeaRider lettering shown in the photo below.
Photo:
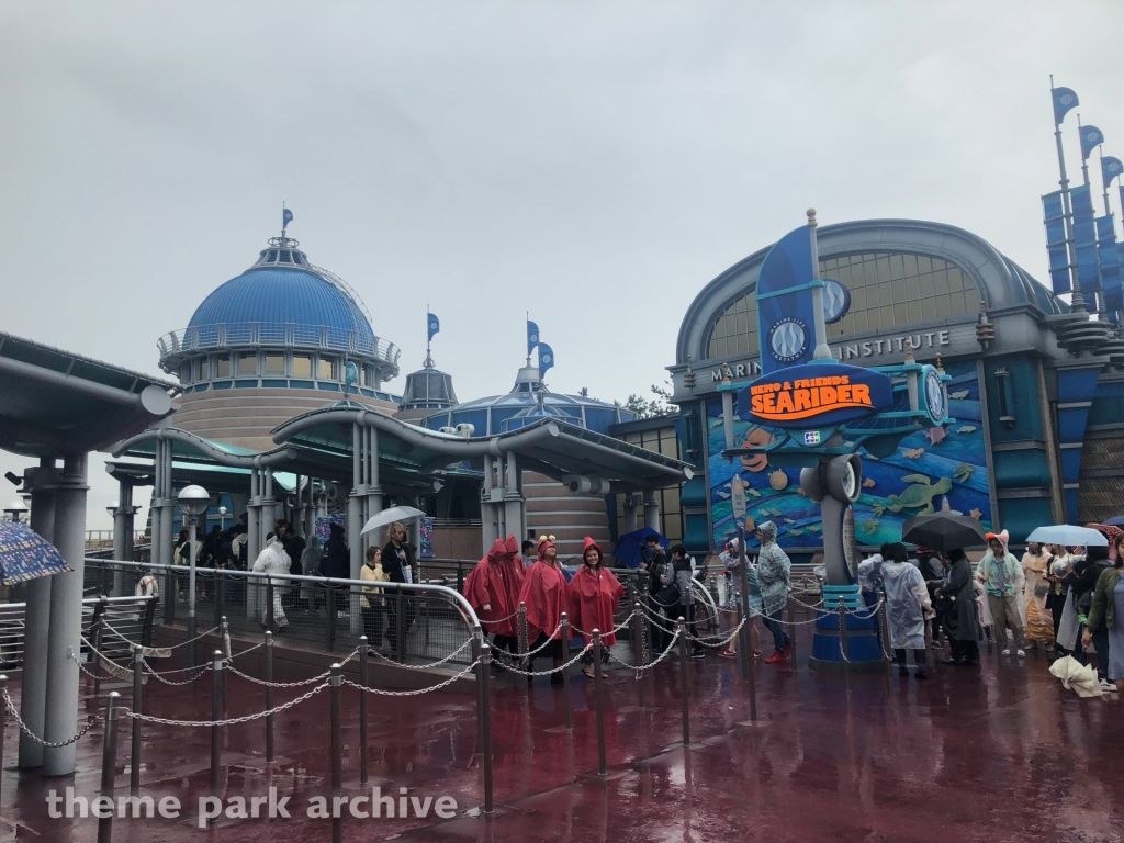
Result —
[[808, 363], [778, 370], [738, 392], [747, 422], [773, 427], [826, 427], [865, 418], [894, 402], [881, 372], [839, 363]]

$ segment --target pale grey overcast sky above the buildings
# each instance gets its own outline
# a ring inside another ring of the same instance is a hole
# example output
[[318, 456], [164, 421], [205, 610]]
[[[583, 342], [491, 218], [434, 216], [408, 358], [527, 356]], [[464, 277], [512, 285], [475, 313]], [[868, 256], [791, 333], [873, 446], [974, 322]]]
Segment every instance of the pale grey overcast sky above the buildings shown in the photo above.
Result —
[[7, 0], [0, 328], [158, 373], [157, 336], [287, 201], [404, 373], [428, 303], [460, 398], [505, 392], [529, 310], [554, 390], [624, 400], [698, 290], [809, 206], [961, 226], [1045, 279], [1049, 74], [1124, 157], [1122, 34], [1118, 0]]

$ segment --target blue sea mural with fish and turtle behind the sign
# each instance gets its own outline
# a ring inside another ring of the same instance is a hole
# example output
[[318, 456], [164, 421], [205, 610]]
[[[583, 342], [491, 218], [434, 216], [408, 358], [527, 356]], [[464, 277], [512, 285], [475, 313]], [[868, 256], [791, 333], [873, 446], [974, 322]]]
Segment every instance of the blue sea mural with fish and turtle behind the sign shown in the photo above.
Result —
[[[918, 430], [901, 441], [890, 456], [878, 460], [865, 451], [862, 492], [854, 505], [855, 534], [861, 545], [897, 542], [901, 525], [915, 515], [944, 509], [977, 518], [991, 527], [984, 418], [976, 364], [948, 366], [951, 415], [948, 428]], [[726, 446], [722, 399], [706, 402], [710, 516], [715, 547], [737, 535], [735, 513], [744, 508], [746, 528], [771, 520], [786, 547], [816, 550], [823, 545], [819, 505], [800, 489], [799, 469], [779, 469], [764, 454], [723, 457]], [[740, 446], [767, 445], [772, 435], [734, 416]]]

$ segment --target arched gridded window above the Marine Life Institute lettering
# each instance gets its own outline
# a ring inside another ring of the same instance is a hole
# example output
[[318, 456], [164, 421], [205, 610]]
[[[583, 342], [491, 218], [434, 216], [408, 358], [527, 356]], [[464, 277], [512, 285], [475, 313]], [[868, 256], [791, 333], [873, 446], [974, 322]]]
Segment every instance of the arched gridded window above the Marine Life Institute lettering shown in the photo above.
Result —
[[[819, 262], [819, 277], [833, 278], [851, 291], [851, 309], [827, 326], [827, 335], [862, 334], [931, 319], [972, 314], [980, 292], [969, 275], [948, 261], [928, 255], [863, 252]], [[758, 305], [747, 292], [718, 316], [707, 357], [758, 351]]]

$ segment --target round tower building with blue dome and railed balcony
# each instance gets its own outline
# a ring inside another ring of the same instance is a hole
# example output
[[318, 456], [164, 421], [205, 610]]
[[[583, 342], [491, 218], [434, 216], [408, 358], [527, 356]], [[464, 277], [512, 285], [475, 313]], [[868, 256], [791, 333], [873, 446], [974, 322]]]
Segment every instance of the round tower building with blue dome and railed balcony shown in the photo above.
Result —
[[398, 409], [383, 386], [398, 375], [398, 347], [375, 336], [355, 291], [298, 246], [283, 232], [271, 238], [157, 342], [161, 369], [183, 386], [178, 428], [261, 451], [281, 423], [345, 397]]

